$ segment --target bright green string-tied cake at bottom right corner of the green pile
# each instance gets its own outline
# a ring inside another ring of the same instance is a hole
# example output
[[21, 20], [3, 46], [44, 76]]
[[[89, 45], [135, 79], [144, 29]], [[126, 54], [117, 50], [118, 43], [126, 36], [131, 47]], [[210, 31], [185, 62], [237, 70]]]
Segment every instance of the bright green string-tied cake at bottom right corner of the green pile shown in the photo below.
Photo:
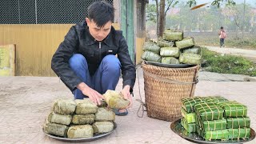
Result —
[[250, 128], [244, 127], [240, 129], [228, 129], [230, 139], [250, 138]]

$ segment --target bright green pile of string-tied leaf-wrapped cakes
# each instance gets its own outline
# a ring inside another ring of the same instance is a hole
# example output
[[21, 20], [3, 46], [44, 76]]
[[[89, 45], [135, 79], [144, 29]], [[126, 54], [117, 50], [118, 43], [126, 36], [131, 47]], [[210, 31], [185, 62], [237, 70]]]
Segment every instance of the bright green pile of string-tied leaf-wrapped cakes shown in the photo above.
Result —
[[247, 107], [221, 96], [183, 98], [181, 124], [208, 141], [250, 138]]

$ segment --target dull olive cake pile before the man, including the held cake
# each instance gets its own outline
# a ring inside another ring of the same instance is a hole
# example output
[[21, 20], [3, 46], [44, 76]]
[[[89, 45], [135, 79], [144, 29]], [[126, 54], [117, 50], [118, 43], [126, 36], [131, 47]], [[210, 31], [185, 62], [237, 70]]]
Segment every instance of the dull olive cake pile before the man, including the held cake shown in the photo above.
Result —
[[124, 109], [130, 101], [114, 90], [107, 90], [101, 106], [89, 98], [57, 100], [46, 118], [43, 130], [63, 138], [92, 138], [94, 134], [114, 129], [115, 114], [111, 108]]

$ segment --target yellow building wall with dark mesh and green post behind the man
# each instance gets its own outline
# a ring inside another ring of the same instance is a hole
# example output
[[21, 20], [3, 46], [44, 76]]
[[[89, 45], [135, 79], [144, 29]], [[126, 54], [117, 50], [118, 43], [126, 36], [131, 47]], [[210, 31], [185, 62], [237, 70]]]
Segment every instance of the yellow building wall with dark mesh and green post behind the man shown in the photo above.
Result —
[[[55, 76], [51, 57], [64, 36], [87, 16], [87, 7], [98, 0], [2, 0], [0, 45], [15, 44], [15, 75]], [[145, 41], [146, 0], [106, 0], [114, 5], [113, 26], [123, 31], [134, 64], [140, 62]]]

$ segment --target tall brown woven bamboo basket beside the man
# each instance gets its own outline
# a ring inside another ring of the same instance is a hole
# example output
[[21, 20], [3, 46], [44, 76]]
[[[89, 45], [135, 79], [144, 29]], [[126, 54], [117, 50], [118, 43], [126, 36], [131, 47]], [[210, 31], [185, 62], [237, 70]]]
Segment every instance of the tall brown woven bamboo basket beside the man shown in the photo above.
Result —
[[146, 111], [150, 118], [181, 118], [182, 98], [194, 97], [198, 66], [166, 68], [142, 62]]

